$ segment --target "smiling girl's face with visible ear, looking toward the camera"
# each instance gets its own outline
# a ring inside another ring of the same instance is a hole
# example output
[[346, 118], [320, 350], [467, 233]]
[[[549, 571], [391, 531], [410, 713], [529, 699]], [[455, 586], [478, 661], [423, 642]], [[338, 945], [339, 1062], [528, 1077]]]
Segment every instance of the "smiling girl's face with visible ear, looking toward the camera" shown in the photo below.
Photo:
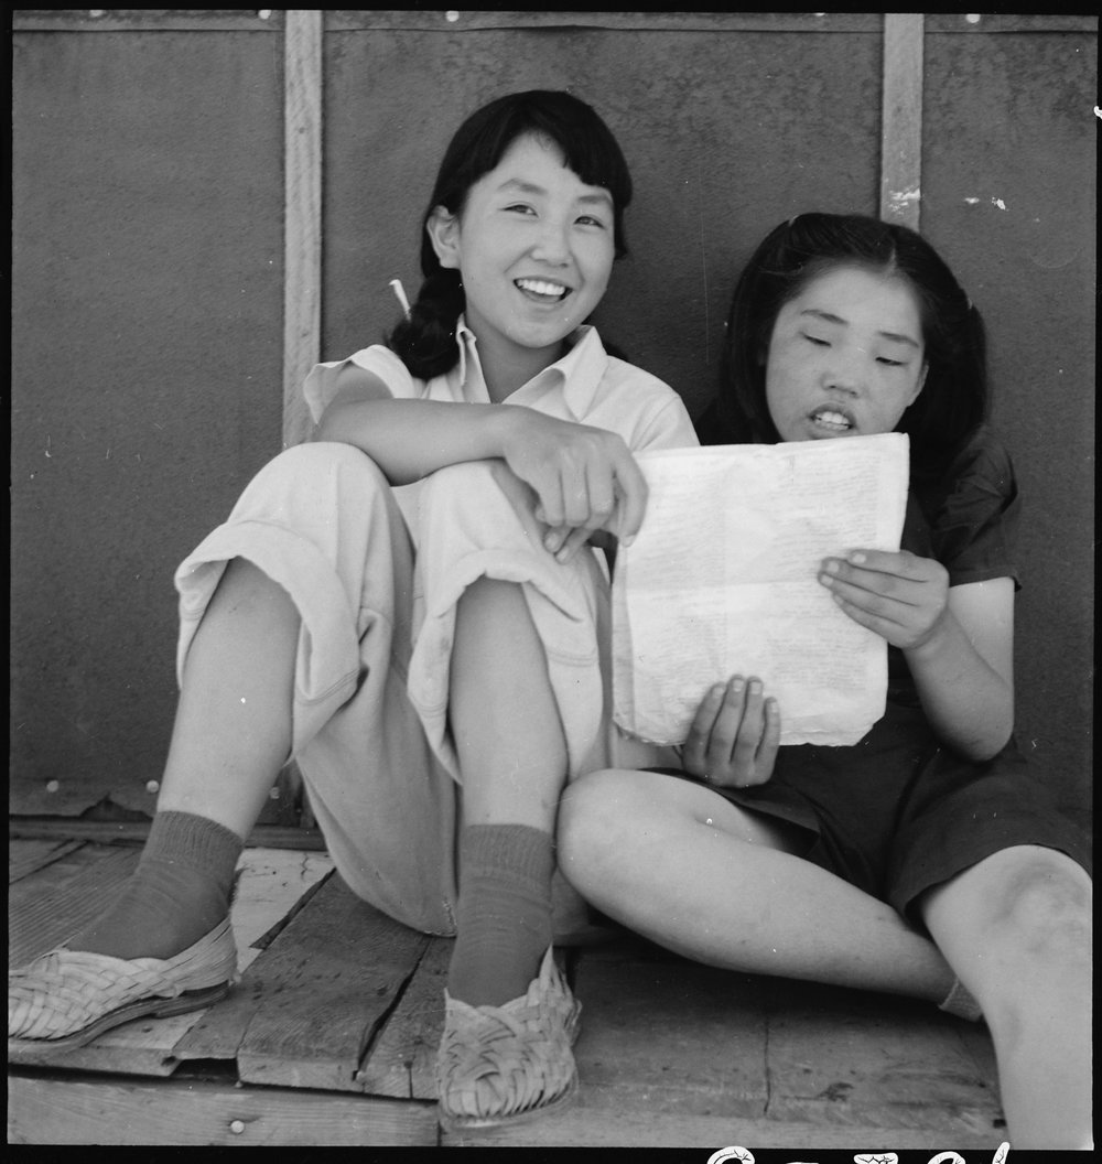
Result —
[[429, 233], [441, 263], [460, 270], [479, 345], [557, 359], [609, 285], [613, 226], [609, 191], [526, 134], [471, 186], [458, 217], [438, 210]]

